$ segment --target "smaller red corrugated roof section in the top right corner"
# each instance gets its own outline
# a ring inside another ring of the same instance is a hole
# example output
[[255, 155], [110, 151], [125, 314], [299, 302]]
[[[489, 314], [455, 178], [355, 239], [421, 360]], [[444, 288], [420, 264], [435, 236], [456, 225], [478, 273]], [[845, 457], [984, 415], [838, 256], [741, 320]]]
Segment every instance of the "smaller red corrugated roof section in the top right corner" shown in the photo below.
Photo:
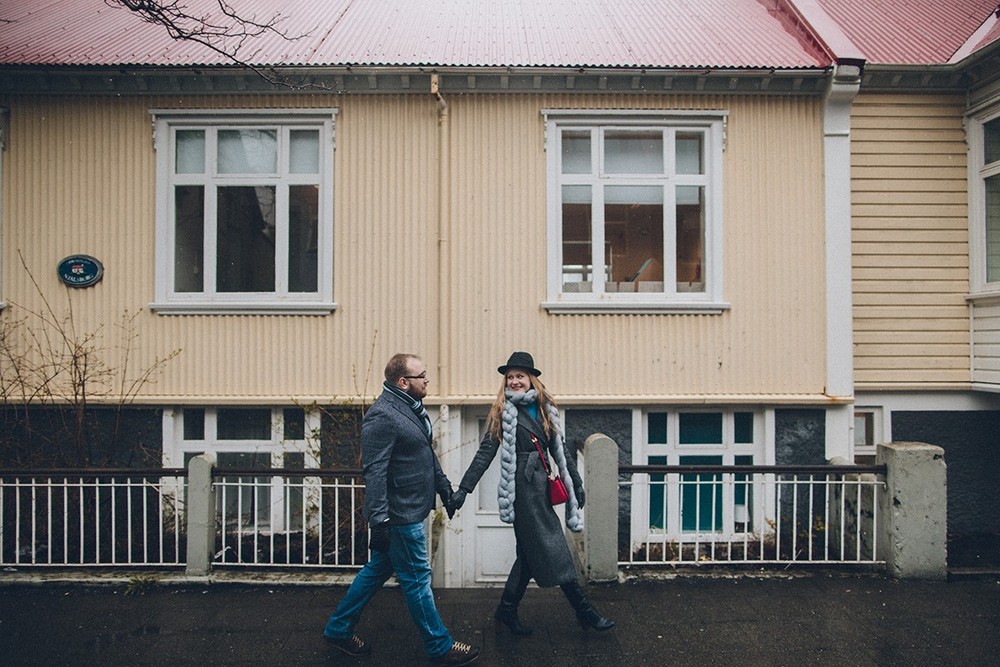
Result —
[[[939, 65], [989, 19], [998, 0], [817, 0], [869, 63]], [[984, 40], [979, 48], [994, 41]]]

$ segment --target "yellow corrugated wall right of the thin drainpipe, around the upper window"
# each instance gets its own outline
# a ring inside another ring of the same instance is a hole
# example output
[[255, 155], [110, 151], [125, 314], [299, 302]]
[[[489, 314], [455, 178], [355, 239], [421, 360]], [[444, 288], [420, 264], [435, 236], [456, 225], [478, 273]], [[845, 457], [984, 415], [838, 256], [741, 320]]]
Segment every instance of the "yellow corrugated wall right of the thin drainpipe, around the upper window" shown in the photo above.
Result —
[[[722, 315], [549, 315], [543, 108], [725, 109]], [[778, 98], [477, 96], [452, 102], [454, 390], [494, 393], [532, 351], [561, 396], [821, 393], [820, 104]], [[466, 165], [466, 166], [461, 166]]]

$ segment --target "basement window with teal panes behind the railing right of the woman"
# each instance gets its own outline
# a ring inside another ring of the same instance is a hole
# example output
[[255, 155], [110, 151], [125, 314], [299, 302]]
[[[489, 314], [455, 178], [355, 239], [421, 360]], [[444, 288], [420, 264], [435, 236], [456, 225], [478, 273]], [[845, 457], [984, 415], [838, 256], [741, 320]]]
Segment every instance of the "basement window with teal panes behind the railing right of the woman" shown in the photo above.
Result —
[[[645, 465], [763, 463], [763, 416], [750, 411], [650, 411], [642, 414], [643, 443], [633, 462]], [[650, 474], [633, 486], [632, 534], [732, 536], [760, 526], [750, 475]], [[646, 490], [648, 488], [648, 491]], [[760, 496], [756, 496], [759, 498]]]

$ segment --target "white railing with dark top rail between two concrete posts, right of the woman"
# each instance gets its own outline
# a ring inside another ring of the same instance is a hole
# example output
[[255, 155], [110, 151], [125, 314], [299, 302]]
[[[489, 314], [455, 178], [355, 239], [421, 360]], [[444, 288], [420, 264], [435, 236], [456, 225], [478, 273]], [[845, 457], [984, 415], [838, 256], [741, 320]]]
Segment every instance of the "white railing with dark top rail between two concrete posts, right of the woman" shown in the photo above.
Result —
[[884, 564], [885, 466], [622, 465], [618, 563]]

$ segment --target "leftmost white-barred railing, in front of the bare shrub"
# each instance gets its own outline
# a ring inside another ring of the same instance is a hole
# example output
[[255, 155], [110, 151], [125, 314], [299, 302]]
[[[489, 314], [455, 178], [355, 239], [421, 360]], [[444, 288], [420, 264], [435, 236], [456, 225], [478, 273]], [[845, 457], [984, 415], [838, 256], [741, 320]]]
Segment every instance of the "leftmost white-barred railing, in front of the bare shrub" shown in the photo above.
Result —
[[0, 564], [174, 566], [183, 468], [0, 470]]

